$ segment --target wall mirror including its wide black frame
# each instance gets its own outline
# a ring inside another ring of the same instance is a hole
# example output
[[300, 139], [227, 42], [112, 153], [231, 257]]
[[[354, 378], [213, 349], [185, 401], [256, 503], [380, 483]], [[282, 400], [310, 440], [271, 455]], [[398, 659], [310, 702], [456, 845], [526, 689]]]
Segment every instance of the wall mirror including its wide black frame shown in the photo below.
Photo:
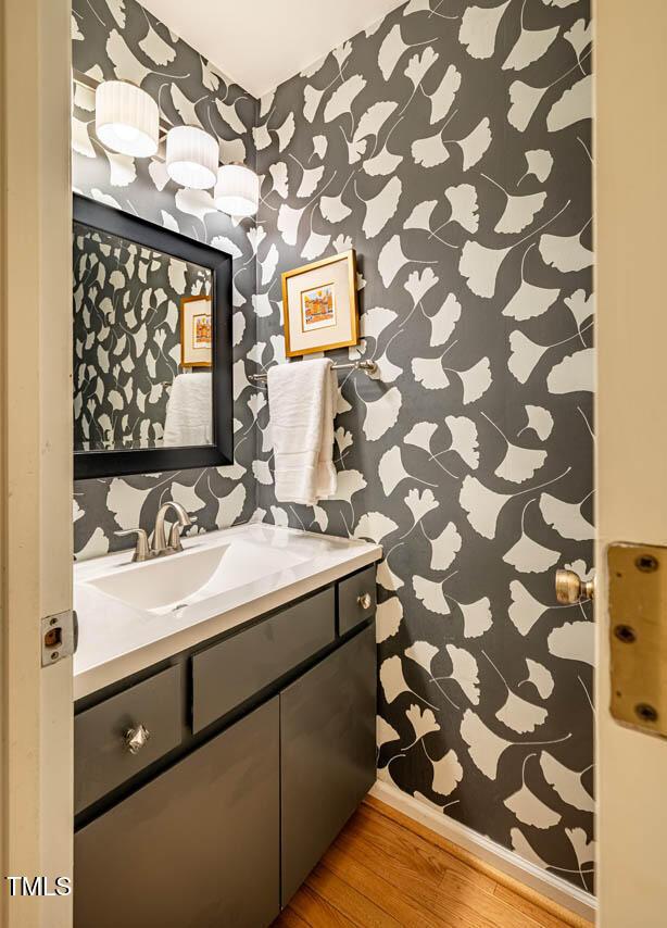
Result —
[[74, 195], [74, 477], [231, 464], [231, 255]]

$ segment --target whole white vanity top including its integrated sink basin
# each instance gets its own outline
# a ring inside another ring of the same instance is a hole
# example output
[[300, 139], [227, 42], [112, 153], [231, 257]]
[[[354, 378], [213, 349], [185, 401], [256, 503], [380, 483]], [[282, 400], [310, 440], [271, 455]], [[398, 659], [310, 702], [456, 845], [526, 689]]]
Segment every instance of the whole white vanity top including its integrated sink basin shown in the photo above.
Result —
[[252, 523], [186, 537], [183, 545], [179, 554], [142, 564], [118, 551], [74, 565], [75, 699], [382, 556], [366, 541]]

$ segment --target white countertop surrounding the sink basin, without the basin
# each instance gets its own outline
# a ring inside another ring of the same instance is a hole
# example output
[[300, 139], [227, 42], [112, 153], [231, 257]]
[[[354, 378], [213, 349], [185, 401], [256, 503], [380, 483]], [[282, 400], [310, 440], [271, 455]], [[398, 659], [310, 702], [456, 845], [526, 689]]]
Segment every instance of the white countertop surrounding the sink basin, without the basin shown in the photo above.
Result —
[[[150, 570], [153, 564], [174, 564], [196, 550], [236, 541], [244, 543], [237, 545], [240, 555], [235, 562], [235, 586], [212, 595], [193, 597], [190, 604], [166, 613], [130, 606], [90, 582], [115, 572]], [[74, 607], [79, 623], [78, 649], [74, 655], [75, 699], [278, 609], [382, 555], [378, 544], [366, 541], [261, 524], [184, 538], [183, 547], [181, 554], [131, 566], [127, 566], [131, 551], [75, 563]], [[268, 573], [262, 573], [257, 547], [265, 549], [266, 563], [273, 564]], [[242, 562], [243, 552], [255, 554], [247, 565]], [[244, 577], [250, 579], [244, 581]]]

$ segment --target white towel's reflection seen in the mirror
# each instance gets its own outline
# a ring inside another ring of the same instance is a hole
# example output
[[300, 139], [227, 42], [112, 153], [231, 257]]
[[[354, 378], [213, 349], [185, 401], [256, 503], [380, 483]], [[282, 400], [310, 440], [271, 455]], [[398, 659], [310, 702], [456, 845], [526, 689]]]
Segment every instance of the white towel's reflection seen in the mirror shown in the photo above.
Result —
[[211, 374], [178, 374], [172, 384], [164, 421], [166, 448], [211, 444], [213, 437]]

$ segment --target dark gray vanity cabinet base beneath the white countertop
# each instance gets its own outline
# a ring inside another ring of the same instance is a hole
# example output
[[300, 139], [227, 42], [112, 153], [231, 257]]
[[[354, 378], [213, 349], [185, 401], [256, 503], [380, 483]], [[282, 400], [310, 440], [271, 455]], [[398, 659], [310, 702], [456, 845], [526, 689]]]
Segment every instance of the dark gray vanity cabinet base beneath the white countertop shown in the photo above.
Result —
[[75, 928], [276, 918], [375, 780], [375, 607], [369, 567], [77, 706]]

